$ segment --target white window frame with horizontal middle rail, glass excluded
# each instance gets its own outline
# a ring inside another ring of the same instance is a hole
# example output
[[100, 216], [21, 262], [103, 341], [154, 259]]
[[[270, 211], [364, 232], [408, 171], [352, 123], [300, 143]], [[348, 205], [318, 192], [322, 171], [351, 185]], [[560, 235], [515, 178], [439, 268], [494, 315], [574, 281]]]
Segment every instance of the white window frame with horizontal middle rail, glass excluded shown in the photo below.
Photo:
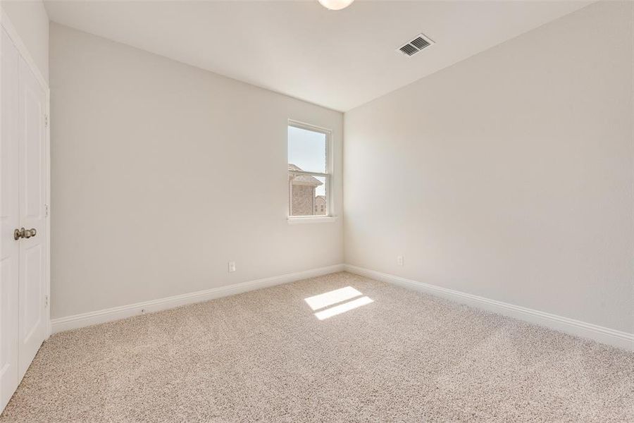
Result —
[[[292, 193], [291, 193], [291, 188], [290, 188], [290, 184], [288, 187], [288, 196], [287, 196], [287, 220], [288, 223], [313, 223], [313, 222], [328, 222], [328, 221], [335, 221], [336, 216], [333, 214], [333, 200], [334, 200], [334, 195], [332, 193], [332, 186], [334, 185], [332, 183], [332, 178], [333, 178], [333, 168], [334, 168], [334, 163], [335, 161], [333, 160], [333, 154], [332, 154], [332, 130], [328, 129], [328, 128], [323, 128], [321, 126], [318, 125], [312, 125], [311, 123], [306, 123], [306, 122], [301, 122], [301, 121], [295, 121], [293, 119], [289, 119], [288, 123], [287, 123], [287, 134], [288, 134], [288, 127], [292, 126], [293, 128], [299, 128], [299, 129], [304, 129], [304, 130], [310, 130], [312, 132], [316, 132], [316, 133], [322, 133], [325, 135], [325, 173], [320, 173], [320, 172], [310, 172], [310, 171], [288, 171], [287, 170], [287, 174], [294, 174], [294, 175], [306, 175], [306, 176], [318, 176], [321, 178], [324, 178], [324, 184], [325, 184], [325, 197], [326, 197], [326, 206], [325, 206], [325, 214], [313, 214], [313, 215], [309, 215], [309, 216], [292, 216]], [[287, 161], [287, 166], [288, 166], [288, 135], [287, 135], [287, 139], [286, 139], [286, 161]], [[315, 204], [313, 202], [313, 213], [316, 213], [314, 211], [315, 209]]]

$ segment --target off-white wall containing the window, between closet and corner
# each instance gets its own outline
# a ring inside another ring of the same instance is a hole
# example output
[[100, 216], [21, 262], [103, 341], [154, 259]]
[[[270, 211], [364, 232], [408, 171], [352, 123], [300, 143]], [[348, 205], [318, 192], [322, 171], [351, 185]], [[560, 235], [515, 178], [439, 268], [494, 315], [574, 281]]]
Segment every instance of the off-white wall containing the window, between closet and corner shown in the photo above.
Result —
[[341, 209], [342, 114], [55, 23], [50, 56], [52, 318], [342, 262], [342, 219], [287, 223], [287, 119], [332, 129]]

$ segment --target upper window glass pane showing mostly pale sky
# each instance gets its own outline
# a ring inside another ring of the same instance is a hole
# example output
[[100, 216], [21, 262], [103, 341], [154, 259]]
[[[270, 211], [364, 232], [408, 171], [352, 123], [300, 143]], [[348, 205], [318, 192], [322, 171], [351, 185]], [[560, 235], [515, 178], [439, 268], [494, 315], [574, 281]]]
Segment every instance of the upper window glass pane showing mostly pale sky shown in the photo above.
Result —
[[326, 173], [326, 135], [288, 127], [288, 164], [306, 172]]

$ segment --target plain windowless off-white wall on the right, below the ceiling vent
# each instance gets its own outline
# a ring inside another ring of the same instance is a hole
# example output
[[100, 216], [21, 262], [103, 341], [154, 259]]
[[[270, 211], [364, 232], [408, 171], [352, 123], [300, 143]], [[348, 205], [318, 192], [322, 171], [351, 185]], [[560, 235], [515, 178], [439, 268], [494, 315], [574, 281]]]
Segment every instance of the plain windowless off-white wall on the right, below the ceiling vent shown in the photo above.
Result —
[[346, 262], [633, 333], [633, 7], [346, 113]]

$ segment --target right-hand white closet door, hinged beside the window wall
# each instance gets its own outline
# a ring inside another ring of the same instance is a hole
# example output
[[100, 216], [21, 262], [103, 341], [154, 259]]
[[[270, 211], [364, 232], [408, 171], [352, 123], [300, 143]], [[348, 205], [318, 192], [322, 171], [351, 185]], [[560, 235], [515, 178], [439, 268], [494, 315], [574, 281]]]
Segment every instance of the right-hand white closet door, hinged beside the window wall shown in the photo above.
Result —
[[20, 56], [18, 84], [20, 379], [46, 338], [46, 92]]

